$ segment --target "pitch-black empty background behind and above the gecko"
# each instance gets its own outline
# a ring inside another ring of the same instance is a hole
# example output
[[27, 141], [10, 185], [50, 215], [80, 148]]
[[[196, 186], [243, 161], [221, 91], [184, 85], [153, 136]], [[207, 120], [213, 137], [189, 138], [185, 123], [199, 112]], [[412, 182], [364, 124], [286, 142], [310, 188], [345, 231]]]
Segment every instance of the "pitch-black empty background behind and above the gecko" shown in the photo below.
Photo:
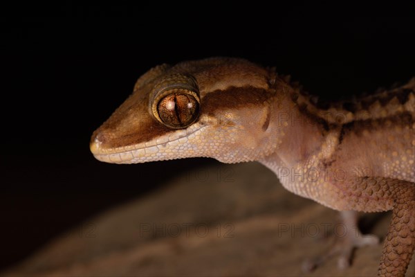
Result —
[[415, 76], [409, 7], [356, 15], [362, 7], [311, 3], [19, 5], [0, 11], [0, 268], [178, 172], [214, 162], [93, 159], [91, 133], [156, 64], [245, 57], [329, 99]]

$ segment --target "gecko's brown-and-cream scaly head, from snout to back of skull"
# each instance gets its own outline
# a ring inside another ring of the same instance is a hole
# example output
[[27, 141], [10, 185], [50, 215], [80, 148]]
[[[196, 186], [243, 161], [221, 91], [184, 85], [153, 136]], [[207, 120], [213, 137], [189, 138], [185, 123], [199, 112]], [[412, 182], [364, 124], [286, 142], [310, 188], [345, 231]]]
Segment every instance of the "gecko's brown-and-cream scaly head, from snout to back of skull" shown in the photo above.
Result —
[[269, 139], [274, 76], [235, 58], [156, 66], [93, 133], [91, 152], [109, 163], [264, 157], [275, 148]]

